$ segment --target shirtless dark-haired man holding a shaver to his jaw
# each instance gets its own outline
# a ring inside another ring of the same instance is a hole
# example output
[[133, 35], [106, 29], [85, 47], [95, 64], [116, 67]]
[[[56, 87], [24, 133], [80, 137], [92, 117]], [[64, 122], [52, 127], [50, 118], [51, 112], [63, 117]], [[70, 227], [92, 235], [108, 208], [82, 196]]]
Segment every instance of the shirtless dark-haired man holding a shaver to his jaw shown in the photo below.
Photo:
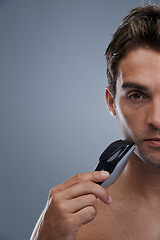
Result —
[[160, 239], [160, 7], [133, 9], [106, 58], [108, 109], [136, 149], [107, 190], [96, 184], [107, 172], [78, 174], [54, 187], [32, 240]]

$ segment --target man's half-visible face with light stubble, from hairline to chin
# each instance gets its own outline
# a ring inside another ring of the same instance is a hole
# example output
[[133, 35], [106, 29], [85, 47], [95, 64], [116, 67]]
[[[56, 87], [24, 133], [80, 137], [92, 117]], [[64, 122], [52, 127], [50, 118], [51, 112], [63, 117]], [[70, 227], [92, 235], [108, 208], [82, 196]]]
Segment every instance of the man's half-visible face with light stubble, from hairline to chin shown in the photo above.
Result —
[[113, 103], [122, 134], [137, 145], [136, 154], [160, 166], [160, 53], [130, 51], [120, 61]]

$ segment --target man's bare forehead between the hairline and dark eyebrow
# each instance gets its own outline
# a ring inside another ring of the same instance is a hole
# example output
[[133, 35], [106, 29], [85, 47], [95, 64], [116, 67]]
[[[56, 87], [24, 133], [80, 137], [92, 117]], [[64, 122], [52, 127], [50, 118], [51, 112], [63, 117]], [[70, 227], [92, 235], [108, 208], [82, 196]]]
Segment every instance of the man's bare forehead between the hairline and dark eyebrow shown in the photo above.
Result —
[[159, 84], [160, 52], [149, 48], [130, 51], [119, 63], [117, 82], [134, 82], [147, 87]]

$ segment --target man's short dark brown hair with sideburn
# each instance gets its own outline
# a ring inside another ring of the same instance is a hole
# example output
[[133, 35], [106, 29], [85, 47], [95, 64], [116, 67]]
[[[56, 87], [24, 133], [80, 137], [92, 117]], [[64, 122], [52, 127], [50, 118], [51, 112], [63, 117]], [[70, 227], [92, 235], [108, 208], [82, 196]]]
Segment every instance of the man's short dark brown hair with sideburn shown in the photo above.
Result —
[[160, 51], [160, 6], [134, 8], [114, 33], [105, 53], [108, 84], [113, 97], [120, 60], [133, 48], [145, 46]]

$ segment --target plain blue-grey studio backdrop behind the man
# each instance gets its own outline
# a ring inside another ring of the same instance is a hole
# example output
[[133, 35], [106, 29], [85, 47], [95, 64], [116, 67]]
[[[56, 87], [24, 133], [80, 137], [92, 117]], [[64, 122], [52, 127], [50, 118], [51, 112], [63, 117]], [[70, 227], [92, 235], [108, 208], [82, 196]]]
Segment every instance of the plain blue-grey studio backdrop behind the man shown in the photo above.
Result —
[[105, 104], [104, 53], [141, 5], [0, 0], [0, 240], [29, 239], [50, 188], [92, 171], [121, 137]]

